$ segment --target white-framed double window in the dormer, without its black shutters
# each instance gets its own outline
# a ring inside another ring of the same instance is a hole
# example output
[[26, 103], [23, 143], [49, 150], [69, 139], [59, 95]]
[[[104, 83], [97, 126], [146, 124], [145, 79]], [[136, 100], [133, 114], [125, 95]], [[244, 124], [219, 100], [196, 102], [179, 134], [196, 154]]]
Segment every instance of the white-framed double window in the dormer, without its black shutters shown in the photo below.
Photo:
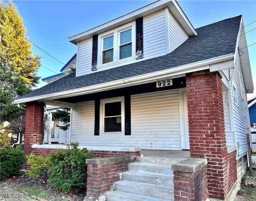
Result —
[[136, 23], [131, 22], [98, 35], [98, 63], [106, 65], [124, 59], [135, 58]]

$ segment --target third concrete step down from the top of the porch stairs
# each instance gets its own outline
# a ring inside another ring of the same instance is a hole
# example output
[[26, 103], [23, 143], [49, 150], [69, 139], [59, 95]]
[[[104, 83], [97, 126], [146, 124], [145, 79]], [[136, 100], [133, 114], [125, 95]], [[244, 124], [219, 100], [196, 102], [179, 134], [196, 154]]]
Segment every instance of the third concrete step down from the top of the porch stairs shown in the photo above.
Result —
[[173, 175], [159, 173], [127, 171], [123, 173], [123, 180], [173, 186]]

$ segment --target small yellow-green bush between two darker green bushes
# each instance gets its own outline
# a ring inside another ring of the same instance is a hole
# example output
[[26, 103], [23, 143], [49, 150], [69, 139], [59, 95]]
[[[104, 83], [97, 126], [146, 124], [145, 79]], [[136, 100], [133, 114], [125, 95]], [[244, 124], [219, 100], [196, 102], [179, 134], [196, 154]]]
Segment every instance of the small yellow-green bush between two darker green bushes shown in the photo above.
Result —
[[27, 164], [30, 165], [29, 170], [26, 170], [26, 175], [32, 179], [36, 179], [42, 175], [44, 181], [46, 181], [50, 168], [50, 158], [44, 158], [43, 156], [36, 156], [34, 154], [30, 154], [26, 158], [28, 159]]

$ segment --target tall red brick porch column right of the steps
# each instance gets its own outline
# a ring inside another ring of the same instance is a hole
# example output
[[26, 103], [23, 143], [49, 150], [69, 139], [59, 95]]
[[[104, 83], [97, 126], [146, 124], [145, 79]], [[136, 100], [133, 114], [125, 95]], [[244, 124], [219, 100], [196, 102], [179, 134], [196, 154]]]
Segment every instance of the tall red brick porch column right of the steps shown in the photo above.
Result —
[[189, 75], [186, 88], [190, 157], [208, 159], [208, 196], [226, 199], [236, 181], [236, 167], [230, 163], [236, 157], [226, 147], [221, 77], [217, 72]]

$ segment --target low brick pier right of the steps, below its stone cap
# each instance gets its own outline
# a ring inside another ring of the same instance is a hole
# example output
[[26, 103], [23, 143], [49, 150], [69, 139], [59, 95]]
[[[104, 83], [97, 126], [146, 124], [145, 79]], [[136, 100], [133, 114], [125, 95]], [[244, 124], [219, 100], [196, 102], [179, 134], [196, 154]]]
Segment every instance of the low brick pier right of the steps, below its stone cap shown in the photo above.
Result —
[[206, 166], [195, 173], [174, 171], [174, 201], [205, 201], [206, 176]]

